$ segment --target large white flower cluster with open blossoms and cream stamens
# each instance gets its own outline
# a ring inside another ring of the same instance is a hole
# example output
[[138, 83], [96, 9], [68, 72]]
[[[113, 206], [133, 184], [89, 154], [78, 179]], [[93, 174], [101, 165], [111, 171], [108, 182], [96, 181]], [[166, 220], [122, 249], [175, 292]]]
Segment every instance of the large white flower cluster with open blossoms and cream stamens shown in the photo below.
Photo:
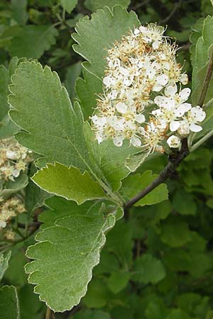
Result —
[[205, 113], [186, 103], [190, 89], [181, 84], [187, 74], [164, 31], [153, 23], [140, 26], [108, 50], [104, 94], [91, 118], [99, 143], [110, 138], [121, 146], [129, 139], [148, 152], [164, 152], [164, 141], [180, 147], [183, 137], [202, 130]]

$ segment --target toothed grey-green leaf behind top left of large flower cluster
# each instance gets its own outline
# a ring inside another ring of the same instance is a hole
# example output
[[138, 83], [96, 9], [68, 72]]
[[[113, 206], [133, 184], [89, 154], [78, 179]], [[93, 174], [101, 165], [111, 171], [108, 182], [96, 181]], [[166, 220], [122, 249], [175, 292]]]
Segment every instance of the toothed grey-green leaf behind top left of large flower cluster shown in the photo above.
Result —
[[107, 49], [139, 24], [136, 13], [129, 13], [121, 6], [115, 6], [111, 11], [105, 6], [92, 14], [91, 20], [88, 16], [82, 18], [72, 38], [78, 43], [73, 46], [75, 52], [88, 61], [83, 64], [85, 69], [97, 77], [103, 77], [107, 65], [104, 59]]

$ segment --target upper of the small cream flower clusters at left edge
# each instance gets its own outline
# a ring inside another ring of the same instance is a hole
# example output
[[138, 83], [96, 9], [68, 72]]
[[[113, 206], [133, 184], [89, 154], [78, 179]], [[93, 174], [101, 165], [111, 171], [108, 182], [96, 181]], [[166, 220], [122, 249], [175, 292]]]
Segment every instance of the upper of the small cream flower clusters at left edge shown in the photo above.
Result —
[[13, 138], [0, 140], [0, 181], [18, 177], [32, 161], [31, 151], [19, 145]]

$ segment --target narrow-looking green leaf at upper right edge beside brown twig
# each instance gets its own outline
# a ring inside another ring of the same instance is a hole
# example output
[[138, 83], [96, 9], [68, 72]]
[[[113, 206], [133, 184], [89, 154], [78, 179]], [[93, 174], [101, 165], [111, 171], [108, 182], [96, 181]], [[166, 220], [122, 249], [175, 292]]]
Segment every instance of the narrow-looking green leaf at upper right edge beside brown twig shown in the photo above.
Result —
[[[196, 43], [195, 58], [192, 57], [192, 61], [195, 61], [195, 66], [192, 72], [192, 103], [197, 105], [202, 90], [205, 75], [207, 73], [207, 66], [209, 63], [210, 55], [212, 54], [212, 32], [213, 32], [213, 18], [207, 16], [204, 19], [202, 28], [202, 35], [198, 38]], [[205, 103], [212, 99], [212, 84], [213, 79], [209, 84]]]

